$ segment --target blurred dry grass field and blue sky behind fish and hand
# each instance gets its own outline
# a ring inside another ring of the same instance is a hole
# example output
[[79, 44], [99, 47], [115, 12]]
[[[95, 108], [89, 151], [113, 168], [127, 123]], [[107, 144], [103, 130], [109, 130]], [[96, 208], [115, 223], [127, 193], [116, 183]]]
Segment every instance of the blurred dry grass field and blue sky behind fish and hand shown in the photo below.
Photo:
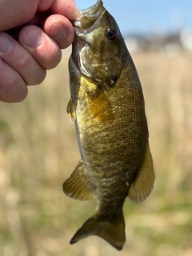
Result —
[[[85, 9], [94, 0], [76, 0]], [[24, 102], [0, 102], [1, 256], [192, 255], [192, 2], [110, 1], [142, 82], [156, 183], [145, 202], [127, 198], [121, 253], [101, 238], [70, 246], [96, 200], [62, 193], [78, 160], [67, 62], [30, 86]]]

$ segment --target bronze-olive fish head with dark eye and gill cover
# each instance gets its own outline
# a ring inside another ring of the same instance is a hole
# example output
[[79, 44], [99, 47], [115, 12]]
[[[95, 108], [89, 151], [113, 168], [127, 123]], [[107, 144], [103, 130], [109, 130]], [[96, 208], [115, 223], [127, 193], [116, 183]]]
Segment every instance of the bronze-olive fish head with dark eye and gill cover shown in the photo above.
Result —
[[72, 59], [79, 72], [102, 86], [113, 86], [120, 77], [127, 52], [114, 18], [98, 2], [74, 20]]

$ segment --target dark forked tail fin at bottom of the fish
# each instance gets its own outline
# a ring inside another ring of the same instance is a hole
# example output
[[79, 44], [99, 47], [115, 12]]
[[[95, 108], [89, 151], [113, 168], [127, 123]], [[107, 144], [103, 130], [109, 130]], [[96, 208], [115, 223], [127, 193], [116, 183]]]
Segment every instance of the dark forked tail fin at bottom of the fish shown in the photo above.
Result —
[[107, 220], [107, 218], [101, 218], [98, 214], [94, 214], [94, 216], [89, 218], [77, 233], [74, 234], [74, 237], [70, 240], [70, 244], [74, 244], [90, 235], [98, 235], [117, 250], [122, 250], [126, 241], [123, 214], [120, 214], [118, 218], [115, 216], [114, 220], [110, 218], [110, 221]]

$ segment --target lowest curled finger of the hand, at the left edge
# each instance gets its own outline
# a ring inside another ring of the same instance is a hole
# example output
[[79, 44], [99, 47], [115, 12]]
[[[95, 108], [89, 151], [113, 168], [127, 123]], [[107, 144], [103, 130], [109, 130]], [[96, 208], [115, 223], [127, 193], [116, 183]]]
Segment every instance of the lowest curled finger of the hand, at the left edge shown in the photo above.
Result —
[[0, 100], [21, 102], [26, 98], [27, 91], [22, 77], [0, 58]]

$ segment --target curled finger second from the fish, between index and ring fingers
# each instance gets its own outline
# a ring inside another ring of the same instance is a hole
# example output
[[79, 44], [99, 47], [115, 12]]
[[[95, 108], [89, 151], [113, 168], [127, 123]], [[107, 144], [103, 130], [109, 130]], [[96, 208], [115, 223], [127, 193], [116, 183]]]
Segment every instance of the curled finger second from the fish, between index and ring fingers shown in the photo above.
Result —
[[54, 68], [61, 61], [62, 52], [57, 42], [38, 26], [25, 26], [18, 36], [18, 42], [46, 70]]

